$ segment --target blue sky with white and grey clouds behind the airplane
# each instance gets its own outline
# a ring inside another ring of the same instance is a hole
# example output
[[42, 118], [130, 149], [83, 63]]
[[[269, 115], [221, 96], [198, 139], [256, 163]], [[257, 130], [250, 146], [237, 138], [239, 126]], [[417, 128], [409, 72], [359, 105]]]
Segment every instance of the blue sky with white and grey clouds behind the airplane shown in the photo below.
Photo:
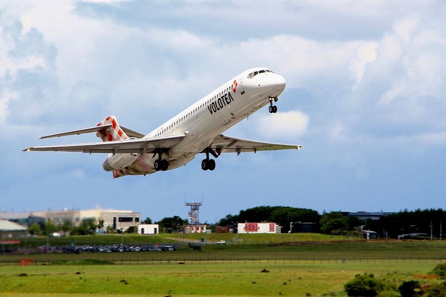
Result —
[[[435, 0], [1, 1], [0, 211], [446, 208], [445, 15]], [[109, 115], [147, 134], [257, 66], [286, 79], [279, 111], [224, 134], [301, 150], [118, 179], [105, 154], [22, 151], [97, 142], [39, 138]]]

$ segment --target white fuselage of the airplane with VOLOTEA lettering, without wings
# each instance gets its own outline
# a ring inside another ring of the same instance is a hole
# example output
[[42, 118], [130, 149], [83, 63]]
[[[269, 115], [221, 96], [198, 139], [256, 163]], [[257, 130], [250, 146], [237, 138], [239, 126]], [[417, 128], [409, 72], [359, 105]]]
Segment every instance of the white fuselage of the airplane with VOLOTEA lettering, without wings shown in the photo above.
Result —
[[[186, 137], [178, 145], [170, 148], [167, 155], [163, 154], [169, 163], [168, 169], [177, 168], [208, 148], [223, 131], [269, 104], [271, 98], [277, 99], [284, 87], [285, 79], [270, 69], [248, 69], [172, 117], [145, 138], [185, 133]], [[155, 160], [153, 154], [141, 154], [129, 166], [116, 170], [114, 175], [154, 173]]]

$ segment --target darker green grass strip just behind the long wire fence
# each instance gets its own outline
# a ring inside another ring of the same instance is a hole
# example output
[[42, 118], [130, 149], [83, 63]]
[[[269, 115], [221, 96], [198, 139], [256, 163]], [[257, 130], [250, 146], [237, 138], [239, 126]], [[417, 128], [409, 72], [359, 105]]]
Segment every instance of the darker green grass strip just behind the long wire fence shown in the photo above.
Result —
[[0, 263], [101, 259], [111, 261], [158, 261], [170, 259], [446, 259], [446, 242], [440, 241], [345, 241], [283, 245], [209, 245], [202, 251], [181, 246], [176, 251], [112, 252], [80, 254], [0, 255]]

